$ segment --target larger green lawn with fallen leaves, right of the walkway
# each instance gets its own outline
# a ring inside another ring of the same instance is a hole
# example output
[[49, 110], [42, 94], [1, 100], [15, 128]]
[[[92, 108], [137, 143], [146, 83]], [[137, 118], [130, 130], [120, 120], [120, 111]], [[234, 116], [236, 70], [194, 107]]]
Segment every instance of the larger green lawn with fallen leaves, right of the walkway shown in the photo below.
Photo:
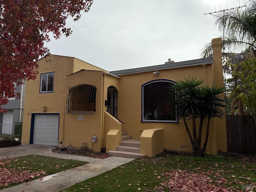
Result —
[[224, 155], [207, 155], [205, 158], [171, 155], [136, 159], [61, 192], [162, 192], [172, 191], [175, 187], [173, 191], [188, 191], [181, 189], [182, 185], [194, 188], [193, 191], [200, 191], [198, 188], [223, 192], [234, 189], [246, 191], [246, 188], [256, 190], [255, 159]]

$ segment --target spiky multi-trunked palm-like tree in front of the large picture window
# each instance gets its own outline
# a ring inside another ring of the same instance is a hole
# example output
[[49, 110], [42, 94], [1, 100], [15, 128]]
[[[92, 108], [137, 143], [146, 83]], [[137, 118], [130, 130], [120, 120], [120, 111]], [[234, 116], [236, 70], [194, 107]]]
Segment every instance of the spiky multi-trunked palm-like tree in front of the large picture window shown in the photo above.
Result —
[[[176, 104], [177, 118], [183, 119], [186, 131], [192, 144], [194, 156], [204, 156], [206, 145], [208, 143], [208, 135], [210, 128], [210, 120], [212, 118], [221, 118], [224, 115], [222, 107], [224, 100], [218, 95], [224, 92], [224, 87], [202, 86], [203, 80], [196, 78], [188, 78], [180, 80], [176, 84], [171, 84], [169, 88], [170, 94], [176, 92], [176, 100], [170, 101]], [[198, 134], [196, 129], [196, 118], [200, 118]], [[206, 136], [204, 145], [202, 143], [202, 127], [204, 119], [208, 119]], [[192, 121], [192, 134], [189, 130], [187, 121]]]

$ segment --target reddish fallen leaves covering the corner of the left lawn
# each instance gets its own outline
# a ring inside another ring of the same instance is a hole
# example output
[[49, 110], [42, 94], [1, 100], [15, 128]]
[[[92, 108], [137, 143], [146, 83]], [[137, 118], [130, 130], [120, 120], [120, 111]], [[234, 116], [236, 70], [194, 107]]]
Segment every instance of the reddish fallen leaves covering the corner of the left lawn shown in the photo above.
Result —
[[0, 168], [0, 187], [8, 186], [18, 182], [24, 182], [44, 174], [46, 174], [44, 171], [31, 172], [30, 170], [22, 171], [20, 168]]

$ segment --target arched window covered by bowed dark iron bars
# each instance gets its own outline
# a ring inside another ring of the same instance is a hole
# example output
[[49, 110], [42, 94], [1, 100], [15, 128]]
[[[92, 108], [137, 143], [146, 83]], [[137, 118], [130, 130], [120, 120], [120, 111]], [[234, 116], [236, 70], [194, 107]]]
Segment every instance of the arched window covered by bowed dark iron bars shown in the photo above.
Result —
[[80, 84], [69, 88], [66, 114], [94, 114], [96, 111], [96, 87]]

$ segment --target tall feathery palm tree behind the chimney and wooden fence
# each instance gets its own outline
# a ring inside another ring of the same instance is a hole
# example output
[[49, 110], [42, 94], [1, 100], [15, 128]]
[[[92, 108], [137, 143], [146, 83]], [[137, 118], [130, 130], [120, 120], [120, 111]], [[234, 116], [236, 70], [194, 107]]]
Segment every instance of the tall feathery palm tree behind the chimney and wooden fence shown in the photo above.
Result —
[[[215, 15], [215, 24], [220, 31], [223, 31], [223, 70], [229, 78], [226, 83], [232, 97], [230, 103], [230, 114], [234, 114], [234, 107], [238, 107], [239, 115], [244, 114], [244, 104], [239, 97], [239, 92], [234, 91], [234, 87], [240, 84], [239, 79], [232, 74], [238, 72], [239, 68], [234, 68], [237, 63], [244, 62], [249, 57], [256, 57], [256, 0], [249, 0], [244, 9], [230, 9], [219, 12]], [[233, 50], [233, 51], [232, 51]], [[243, 50], [241, 53], [234, 52]], [[232, 53], [233, 52], [233, 53]], [[202, 57], [212, 56], [211, 44], [206, 44], [201, 52]]]

